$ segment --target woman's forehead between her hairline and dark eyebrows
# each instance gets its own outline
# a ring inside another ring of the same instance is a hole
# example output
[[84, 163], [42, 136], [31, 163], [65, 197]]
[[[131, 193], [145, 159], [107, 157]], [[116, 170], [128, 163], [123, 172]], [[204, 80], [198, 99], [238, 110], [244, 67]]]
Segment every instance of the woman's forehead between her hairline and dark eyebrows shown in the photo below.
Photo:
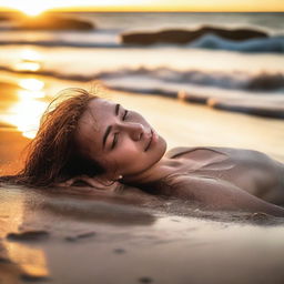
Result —
[[110, 120], [115, 114], [116, 103], [103, 99], [93, 99], [79, 120], [77, 139], [85, 152], [102, 149], [102, 138]]

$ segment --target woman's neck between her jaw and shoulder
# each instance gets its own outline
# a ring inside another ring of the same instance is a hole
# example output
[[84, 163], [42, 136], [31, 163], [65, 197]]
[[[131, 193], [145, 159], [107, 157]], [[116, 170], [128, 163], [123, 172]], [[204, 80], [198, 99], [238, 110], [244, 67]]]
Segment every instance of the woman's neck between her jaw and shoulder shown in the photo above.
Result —
[[125, 183], [133, 183], [133, 184], [146, 184], [159, 181], [166, 176], [170, 173], [173, 173], [180, 162], [169, 158], [162, 158], [159, 162], [150, 166], [149, 169], [144, 170], [143, 172], [128, 175], [123, 178]]

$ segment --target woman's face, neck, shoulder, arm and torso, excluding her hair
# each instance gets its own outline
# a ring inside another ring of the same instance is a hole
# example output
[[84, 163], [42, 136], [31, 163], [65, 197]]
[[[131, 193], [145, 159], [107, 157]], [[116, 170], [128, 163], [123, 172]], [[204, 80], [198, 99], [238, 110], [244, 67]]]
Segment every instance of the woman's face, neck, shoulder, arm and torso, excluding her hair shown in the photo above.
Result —
[[165, 140], [141, 114], [103, 99], [90, 102], [79, 121], [77, 142], [84, 155], [105, 169], [104, 179], [123, 175], [123, 183], [149, 185], [156, 194], [211, 209], [284, 216], [282, 207], [254, 196], [265, 190], [276, 195], [284, 190], [280, 179], [283, 165], [263, 153], [185, 148], [179, 158], [164, 155]]

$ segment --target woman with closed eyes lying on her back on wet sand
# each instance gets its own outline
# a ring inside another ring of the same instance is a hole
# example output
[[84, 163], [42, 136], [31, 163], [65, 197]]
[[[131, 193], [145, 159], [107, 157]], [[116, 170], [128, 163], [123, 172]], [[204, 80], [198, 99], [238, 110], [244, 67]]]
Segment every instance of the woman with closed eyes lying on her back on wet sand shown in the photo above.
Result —
[[284, 216], [284, 209], [270, 203], [284, 202], [282, 163], [229, 148], [176, 148], [165, 154], [165, 140], [138, 112], [82, 89], [64, 92], [69, 97], [44, 113], [18, 183], [83, 181], [104, 190], [128, 184], [206, 209]]

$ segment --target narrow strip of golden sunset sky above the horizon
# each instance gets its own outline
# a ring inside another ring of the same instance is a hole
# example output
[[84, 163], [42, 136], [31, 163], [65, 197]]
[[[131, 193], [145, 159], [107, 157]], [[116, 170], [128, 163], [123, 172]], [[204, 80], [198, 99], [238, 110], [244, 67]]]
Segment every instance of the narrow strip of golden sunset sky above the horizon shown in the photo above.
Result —
[[0, 0], [0, 10], [284, 11], [284, 0]]

